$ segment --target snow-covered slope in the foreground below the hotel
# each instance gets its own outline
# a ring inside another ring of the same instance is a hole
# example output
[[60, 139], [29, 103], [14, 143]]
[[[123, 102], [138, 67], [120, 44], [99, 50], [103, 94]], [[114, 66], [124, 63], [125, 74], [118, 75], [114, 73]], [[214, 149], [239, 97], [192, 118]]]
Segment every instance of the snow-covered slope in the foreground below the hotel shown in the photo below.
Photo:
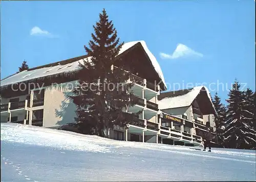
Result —
[[1, 181], [154, 180], [254, 181], [255, 151], [207, 152], [1, 123]]

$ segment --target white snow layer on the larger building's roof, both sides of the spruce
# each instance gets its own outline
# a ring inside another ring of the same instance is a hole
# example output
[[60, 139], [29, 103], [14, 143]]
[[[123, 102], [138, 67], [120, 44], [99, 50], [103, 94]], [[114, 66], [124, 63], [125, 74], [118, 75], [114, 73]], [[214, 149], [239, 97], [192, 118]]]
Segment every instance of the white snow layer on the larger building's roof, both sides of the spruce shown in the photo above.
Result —
[[[164, 77], [163, 77], [163, 73], [162, 73], [162, 70], [160, 68], [160, 65], [158, 64], [155, 56], [150, 52], [150, 50], [148, 50], [145, 41], [141, 40], [141, 41], [133, 41], [133, 42], [124, 43], [124, 45], [122, 46], [122, 48], [119, 52], [119, 55], [121, 53], [123, 53], [124, 51], [133, 47], [138, 42], [141, 43], [143, 49], [145, 50], [148, 57], [150, 58], [150, 60], [152, 62], [152, 65], [154, 66], [155, 71], [158, 73], [160, 79], [162, 80], [162, 82], [164, 83], [164, 85], [166, 87], [166, 83], [164, 81]], [[90, 61], [90, 57], [88, 57], [88, 58], [89, 58], [88, 60]], [[72, 71], [75, 71], [75, 70], [79, 69], [79, 63], [78, 62], [82, 63], [83, 60], [86, 60], [86, 59], [87, 58], [80, 59], [78, 61], [68, 63], [68, 64], [65, 64], [65, 65], [58, 64], [58, 65], [51, 66], [51, 67], [42, 67], [40, 69], [34, 69], [34, 70], [31, 70], [31, 71], [23, 71], [23, 72], [14, 74], [13, 76], [10, 76], [10, 77], [7, 77], [7, 78], [1, 80], [1, 87], [5, 86], [5, 85], [9, 85], [9, 84], [28, 81], [28, 80], [35, 79], [35, 78], [51, 76], [51, 75], [64, 73], [64, 72], [72, 72]]]

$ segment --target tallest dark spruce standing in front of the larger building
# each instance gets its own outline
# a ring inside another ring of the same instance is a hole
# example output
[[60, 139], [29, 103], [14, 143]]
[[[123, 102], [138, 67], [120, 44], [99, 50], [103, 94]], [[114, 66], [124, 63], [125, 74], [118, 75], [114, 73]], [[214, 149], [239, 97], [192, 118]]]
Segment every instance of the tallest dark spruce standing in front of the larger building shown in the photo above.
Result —
[[114, 125], [125, 127], [140, 112], [125, 112], [129, 105], [133, 105], [130, 102], [133, 93], [129, 92], [133, 83], [126, 82], [130, 77], [129, 71], [120, 66], [113, 69], [117, 63], [122, 65], [116, 56], [123, 42], [119, 43], [117, 31], [105, 9], [93, 28], [95, 34], [91, 34], [89, 47], [84, 46], [89, 57], [80, 64], [79, 85], [71, 98], [77, 106], [75, 119], [80, 130], [109, 137], [109, 129]]

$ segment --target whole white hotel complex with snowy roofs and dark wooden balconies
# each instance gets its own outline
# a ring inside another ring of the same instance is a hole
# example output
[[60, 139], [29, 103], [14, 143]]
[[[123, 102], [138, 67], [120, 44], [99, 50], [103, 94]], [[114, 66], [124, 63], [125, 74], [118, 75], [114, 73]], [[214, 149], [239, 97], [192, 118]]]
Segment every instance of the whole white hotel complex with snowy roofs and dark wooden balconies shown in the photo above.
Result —
[[[1, 122], [48, 128], [75, 122], [76, 106], [68, 96], [78, 83], [79, 62], [87, 58], [80, 56], [34, 67], [1, 80]], [[212, 123], [210, 115], [215, 111], [208, 92], [201, 92], [199, 88], [185, 91], [187, 93], [179, 96], [179, 107], [175, 95], [170, 92], [160, 94], [160, 90], [166, 90], [164, 77], [144, 41], [125, 43], [116, 58], [122, 59], [127, 69], [134, 68], [130, 81], [135, 82], [135, 97], [131, 98], [135, 105], [127, 111], [143, 112], [127, 129], [116, 126], [110, 131], [110, 138], [201, 145], [202, 138], [197, 129], [203, 131], [206, 121]], [[118, 65], [114, 65], [110, 69], [117, 68]], [[155, 81], [159, 86], [155, 86]]]

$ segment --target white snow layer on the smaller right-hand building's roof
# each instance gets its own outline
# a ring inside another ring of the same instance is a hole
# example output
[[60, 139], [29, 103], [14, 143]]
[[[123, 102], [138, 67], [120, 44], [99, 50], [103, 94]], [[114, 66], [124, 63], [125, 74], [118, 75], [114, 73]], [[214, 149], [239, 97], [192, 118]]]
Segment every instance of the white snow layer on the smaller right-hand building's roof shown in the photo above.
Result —
[[159, 109], [171, 109], [190, 106], [203, 88], [207, 93], [212, 107], [215, 109], [214, 104], [211, 101], [210, 92], [206, 86], [196, 86], [184, 95], [179, 95], [176, 97], [165, 97], [158, 101]]

